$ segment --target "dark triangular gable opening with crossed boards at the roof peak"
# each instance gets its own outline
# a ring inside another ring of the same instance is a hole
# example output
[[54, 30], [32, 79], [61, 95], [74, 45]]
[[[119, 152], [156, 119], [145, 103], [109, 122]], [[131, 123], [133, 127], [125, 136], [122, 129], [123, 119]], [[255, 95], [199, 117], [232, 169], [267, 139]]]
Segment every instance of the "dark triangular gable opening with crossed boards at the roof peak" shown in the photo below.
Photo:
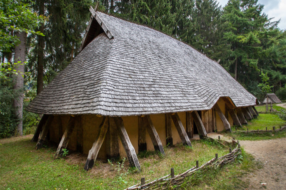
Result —
[[93, 9], [92, 6], [90, 6], [89, 8], [92, 15], [90, 17], [79, 52], [83, 48], [85, 48], [85, 46], [89, 44], [97, 35], [99, 35], [102, 32], [105, 32], [109, 39], [113, 38], [112, 33], [110, 32], [110, 30], [107, 28], [105, 23], [102, 21], [102, 19], [99, 17], [98, 13], [96, 12], [97, 6], [98, 6], [98, 3], [95, 9]]

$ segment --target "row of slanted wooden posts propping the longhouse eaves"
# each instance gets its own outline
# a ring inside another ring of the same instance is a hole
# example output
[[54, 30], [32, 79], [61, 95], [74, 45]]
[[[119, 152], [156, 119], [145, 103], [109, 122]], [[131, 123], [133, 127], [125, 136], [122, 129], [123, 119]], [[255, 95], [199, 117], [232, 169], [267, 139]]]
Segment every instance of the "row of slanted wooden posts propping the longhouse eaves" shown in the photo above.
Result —
[[[235, 113], [233, 108], [226, 107], [226, 110], [229, 112], [232, 120], [234, 121], [235, 125], [247, 124], [247, 120], [250, 120], [253, 117], [257, 117], [258, 112], [255, 109], [254, 106], [250, 107], [240, 107], [235, 108], [237, 114]], [[219, 106], [217, 104], [214, 105], [214, 110], [212, 114], [215, 114], [215, 112], [218, 113], [220, 116], [220, 119], [222, 120], [224, 127], [227, 131], [231, 131], [230, 124], [225, 117], [225, 115], [220, 110]], [[186, 112], [187, 116], [187, 126], [186, 129], [184, 128], [182, 121], [180, 120], [180, 117], [178, 113], [166, 113], [166, 143], [167, 145], [173, 144], [173, 138], [172, 138], [172, 129], [171, 129], [171, 122], [174, 123], [178, 134], [181, 138], [181, 141], [188, 146], [191, 146], [190, 138], [192, 137], [192, 123], [196, 124], [198, 133], [200, 137], [207, 135], [204, 123], [202, 119], [199, 116], [199, 113], [197, 111], [191, 111]], [[202, 115], [203, 116], [203, 115]], [[151, 120], [150, 115], [141, 115], [138, 116], [138, 124], [139, 124], [139, 130], [138, 130], [138, 149], [139, 151], [147, 150], [147, 144], [146, 144], [146, 129], [147, 132], [152, 140], [152, 143], [154, 145], [154, 149], [161, 152], [162, 155], [165, 155], [164, 148], [162, 145], [162, 142], [159, 138], [159, 135], [153, 125], [153, 122]], [[38, 141], [36, 144], [36, 149], [40, 149], [43, 145], [44, 139], [49, 131], [49, 126], [51, 125], [53, 121], [54, 115], [46, 115], [44, 114], [37, 129], [36, 132], [32, 138], [32, 141]], [[246, 119], [245, 119], [246, 118]], [[75, 116], [71, 115], [68, 121], [68, 125], [66, 127], [66, 130], [61, 138], [61, 141], [59, 143], [58, 149], [55, 154], [55, 159], [59, 158], [62, 154], [62, 151], [64, 148], [67, 147], [69, 143], [70, 136], [74, 130], [75, 127]], [[140, 170], [140, 164], [136, 155], [136, 151], [129, 139], [129, 136], [127, 134], [127, 131], [125, 129], [123, 119], [121, 117], [111, 117], [111, 116], [104, 116], [102, 123], [100, 125], [100, 132], [95, 138], [95, 141], [93, 143], [92, 148], [89, 150], [88, 158], [85, 164], [85, 170], [89, 170], [93, 167], [94, 161], [96, 160], [97, 154], [99, 152], [99, 149], [104, 141], [106, 139], [107, 141], [107, 157], [108, 158], [117, 158], [120, 156], [119, 153], [119, 141], [118, 136], [120, 137], [120, 140], [123, 144], [123, 147], [126, 151], [128, 160], [130, 165], [135, 166], [138, 170]]]

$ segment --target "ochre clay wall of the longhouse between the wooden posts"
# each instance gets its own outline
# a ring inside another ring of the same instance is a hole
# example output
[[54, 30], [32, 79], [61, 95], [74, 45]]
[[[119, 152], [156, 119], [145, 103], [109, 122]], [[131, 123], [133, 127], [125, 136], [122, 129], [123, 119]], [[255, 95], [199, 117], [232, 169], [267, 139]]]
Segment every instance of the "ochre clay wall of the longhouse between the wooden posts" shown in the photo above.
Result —
[[[220, 107], [223, 114], [225, 114], [225, 102], [222, 99], [217, 101], [218, 106]], [[203, 112], [203, 111], [202, 111]], [[202, 116], [202, 121], [206, 122], [205, 126], [207, 132], [212, 132], [214, 129], [213, 117], [212, 117], [212, 109], [205, 110], [204, 117]], [[178, 112], [178, 115], [182, 121], [182, 124], [186, 130], [186, 112]], [[52, 121], [50, 126], [50, 140], [58, 144], [62, 138], [62, 135], [67, 127], [69, 122], [70, 115], [56, 115]], [[165, 114], [154, 114], [150, 115], [151, 120], [153, 122], [154, 127], [156, 128], [159, 137], [163, 146], [166, 145], [166, 130], [165, 130]], [[129, 135], [130, 141], [135, 148], [136, 153], [138, 153], [138, 116], [123, 116], [122, 117], [126, 131]], [[92, 144], [99, 133], [99, 126], [103, 120], [103, 116], [97, 115], [80, 115], [75, 117], [75, 128], [71, 135], [68, 148], [72, 150], [82, 151], [85, 154], [88, 154]], [[232, 125], [233, 121], [228, 114], [228, 121]], [[173, 134], [173, 143], [180, 143], [181, 139], [177, 132], [177, 129], [171, 120], [172, 126], [172, 134]], [[216, 113], [216, 127], [218, 131], [222, 131], [224, 129], [224, 125]], [[147, 142], [147, 150], [154, 150], [153, 143], [151, 138], [146, 130], [146, 142]], [[82, 144], [82, 150], [79, 144]], [[119, 139], [119, 147], [121, 156], [126, 156], [123, 145]], [[99, 153], [98, 158], [106, 159], [106, 142], [104, 140]]]

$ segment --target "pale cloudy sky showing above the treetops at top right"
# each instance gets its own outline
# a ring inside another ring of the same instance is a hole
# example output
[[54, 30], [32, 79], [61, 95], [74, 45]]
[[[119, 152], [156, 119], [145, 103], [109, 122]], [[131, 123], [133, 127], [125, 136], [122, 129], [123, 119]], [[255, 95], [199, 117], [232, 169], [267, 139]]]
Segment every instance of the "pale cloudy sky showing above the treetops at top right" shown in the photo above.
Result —
[[[225, 6], [228, 0], [217, 1]], [[258, 0], [258, 3], [264, 4], [263, 12], [268, 14], [268, 18], [274, 17], [273, 21], [281, 18], [278, 27], [286, 29], [286, 0]]]

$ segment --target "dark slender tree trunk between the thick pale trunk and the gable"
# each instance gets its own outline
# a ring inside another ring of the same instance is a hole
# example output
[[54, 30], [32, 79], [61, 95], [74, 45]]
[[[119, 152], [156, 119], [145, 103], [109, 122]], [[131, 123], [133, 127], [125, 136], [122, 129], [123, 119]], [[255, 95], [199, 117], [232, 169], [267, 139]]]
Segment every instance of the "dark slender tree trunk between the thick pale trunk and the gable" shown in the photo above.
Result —
[[[39, 14], [43, 15], [45, 12], [45, 2], [40, 0]], [[44, 33], [44, 23], [41, 24], [39, 30]], [[44, 36], [38, 35], [38, 70], [37, 70], [37, 94], [44, 88]]]

